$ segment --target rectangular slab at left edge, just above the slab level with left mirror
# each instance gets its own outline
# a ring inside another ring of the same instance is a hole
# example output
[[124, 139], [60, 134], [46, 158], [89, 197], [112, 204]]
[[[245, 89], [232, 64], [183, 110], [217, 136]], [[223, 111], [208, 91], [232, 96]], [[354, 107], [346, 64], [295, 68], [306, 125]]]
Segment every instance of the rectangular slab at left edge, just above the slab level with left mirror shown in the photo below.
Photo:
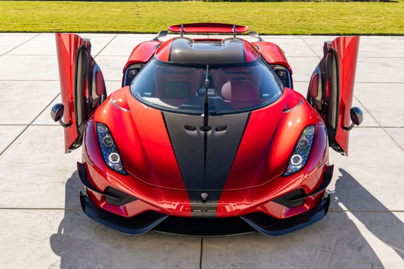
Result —
[[55, 56], [0, 57], [0, 80], [57, 80], [58, 59]]

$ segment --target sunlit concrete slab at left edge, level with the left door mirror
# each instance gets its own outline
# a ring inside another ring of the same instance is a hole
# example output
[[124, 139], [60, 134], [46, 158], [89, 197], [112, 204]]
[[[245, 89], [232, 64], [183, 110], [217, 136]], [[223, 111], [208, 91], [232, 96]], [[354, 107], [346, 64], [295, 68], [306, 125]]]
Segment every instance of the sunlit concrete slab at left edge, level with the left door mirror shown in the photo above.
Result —
[[59, 81], [8, 80], [0, 88], [0, 124], [30, 124], [60, 92]]

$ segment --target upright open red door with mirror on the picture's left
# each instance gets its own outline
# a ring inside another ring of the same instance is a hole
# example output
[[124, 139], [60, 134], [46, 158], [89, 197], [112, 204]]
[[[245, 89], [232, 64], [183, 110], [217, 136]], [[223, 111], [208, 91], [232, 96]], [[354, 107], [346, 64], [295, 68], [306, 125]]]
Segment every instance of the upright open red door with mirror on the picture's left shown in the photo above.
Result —
[[107, 91], [103, 74], [90, 54], [90, 40], [76, 34], [55, 35], [62, 104], [53, 107], [51, 117], [65, 127], [68, 153], [81, 146], [85, 124], [107, 98]]

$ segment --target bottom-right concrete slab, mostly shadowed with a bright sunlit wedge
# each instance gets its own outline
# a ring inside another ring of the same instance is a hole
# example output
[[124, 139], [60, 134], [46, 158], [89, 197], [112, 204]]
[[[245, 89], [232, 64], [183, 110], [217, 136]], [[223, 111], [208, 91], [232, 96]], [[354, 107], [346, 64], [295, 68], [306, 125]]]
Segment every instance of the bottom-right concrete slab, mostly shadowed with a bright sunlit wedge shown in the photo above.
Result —
[[397, 268], [403, 234], [404, 225], [391, 212], [329, 212], [285, 237], [204, 238], [201, 268]]

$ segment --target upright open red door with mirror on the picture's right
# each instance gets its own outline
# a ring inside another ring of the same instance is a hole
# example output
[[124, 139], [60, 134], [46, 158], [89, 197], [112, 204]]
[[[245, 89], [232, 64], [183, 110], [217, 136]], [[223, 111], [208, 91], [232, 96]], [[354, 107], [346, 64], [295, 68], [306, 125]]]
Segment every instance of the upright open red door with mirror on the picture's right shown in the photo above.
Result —
[[363, 120], [362, 111], [351, 108], [358, 48], [359, 36], [326, 41], [324, 57], [313, 72], [307, 96], [326, 123], [330, 147], [344, 155], [348, 154], [349, 130]]

